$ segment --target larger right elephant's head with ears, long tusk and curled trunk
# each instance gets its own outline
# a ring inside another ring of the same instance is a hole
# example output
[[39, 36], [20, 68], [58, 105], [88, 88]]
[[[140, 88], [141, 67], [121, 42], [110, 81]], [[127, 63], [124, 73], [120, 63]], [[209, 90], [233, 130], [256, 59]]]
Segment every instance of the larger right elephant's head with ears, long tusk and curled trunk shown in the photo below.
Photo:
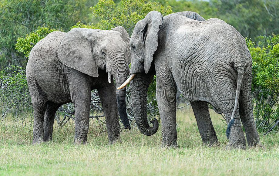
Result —
[[[196, 12], [186, 11], [176, 14], [199, 21], [205, 20]], [[148, 136], [155, 134], [159, 127], [157, 119], [151, 121], [153, 127], [150, 127], [147, 122], [146, 96], [150, 80], [155, 74], [154, 64], [152, 64], [153, 54], [158, 47], [158, 33], [160, 33], [162, 23], [163, 15], [157, 11], [149, 12], [144, 19], [136, 23], [130, 39], [132, 52], [130, 76], [122, 85], [125, 86], [133, 80], [131, 82], [131, 95], [136, 124], [140, 131]]]

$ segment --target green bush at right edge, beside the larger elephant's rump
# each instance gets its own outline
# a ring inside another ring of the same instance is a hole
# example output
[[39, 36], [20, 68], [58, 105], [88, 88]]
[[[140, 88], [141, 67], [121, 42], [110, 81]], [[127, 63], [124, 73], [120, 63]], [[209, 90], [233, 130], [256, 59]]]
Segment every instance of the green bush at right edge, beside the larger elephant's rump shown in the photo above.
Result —
[[279, 35], [260, 36], [256, 44], [247, 39], [251, 53], [254, 117], [259, 128], [279, 118]]

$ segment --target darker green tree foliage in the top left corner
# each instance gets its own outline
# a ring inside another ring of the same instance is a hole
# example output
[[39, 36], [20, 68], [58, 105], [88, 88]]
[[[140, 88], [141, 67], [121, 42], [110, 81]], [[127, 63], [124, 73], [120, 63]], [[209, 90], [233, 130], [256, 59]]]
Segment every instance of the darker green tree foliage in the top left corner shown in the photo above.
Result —
[[0, 68], [25, 66], [26, 58], [14, 47], [18, 37], [43, 25], [67, 31], [78, 21], [89, 23], [89, 7], [95, 3], [96, 0], [0, 0]]

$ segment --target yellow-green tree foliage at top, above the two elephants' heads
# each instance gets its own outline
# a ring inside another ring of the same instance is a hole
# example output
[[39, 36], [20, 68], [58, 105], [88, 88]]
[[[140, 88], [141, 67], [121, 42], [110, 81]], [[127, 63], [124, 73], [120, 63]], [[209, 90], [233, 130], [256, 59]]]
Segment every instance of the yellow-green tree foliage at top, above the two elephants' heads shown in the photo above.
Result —
[[163, 15], [172, 13], [169, 5], [164, 6], [147, 0], [122, 0], [119, 3], [112, 0], [99, 0], [91, 9], [93, 15], [99, 20], [96, 24], [97, 29], [111, 29], [121, 25], [127, 30], [129, 36], [132, 35], [136, 22], [143, 19], [148, 12], [156, 10]]

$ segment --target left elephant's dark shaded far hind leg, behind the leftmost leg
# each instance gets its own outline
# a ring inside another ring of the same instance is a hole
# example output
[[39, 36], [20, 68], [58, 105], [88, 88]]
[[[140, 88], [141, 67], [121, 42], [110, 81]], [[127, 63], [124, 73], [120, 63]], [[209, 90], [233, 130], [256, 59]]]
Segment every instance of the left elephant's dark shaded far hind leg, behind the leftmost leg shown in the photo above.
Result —
[[45, 141], [52, 140], [52, 131], [55, 113], [61, 105], [55, 104], [50, 106], [49, 104], [46, 107], [45, 118], [44, 118], [44, 136]]

